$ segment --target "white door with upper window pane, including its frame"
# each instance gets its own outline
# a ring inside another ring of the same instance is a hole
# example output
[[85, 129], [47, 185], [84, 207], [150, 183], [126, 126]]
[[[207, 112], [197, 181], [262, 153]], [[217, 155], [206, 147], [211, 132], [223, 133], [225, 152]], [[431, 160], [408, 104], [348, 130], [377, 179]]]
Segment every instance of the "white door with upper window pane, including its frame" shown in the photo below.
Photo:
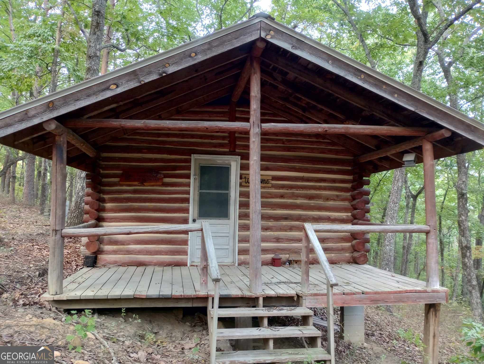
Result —
[[[237, 263], [240, 157], [192, 157], [190, 219], [208, 221], [219, 264]], [[190, 264], [200, 263], [201, 232], [190, 233]]]

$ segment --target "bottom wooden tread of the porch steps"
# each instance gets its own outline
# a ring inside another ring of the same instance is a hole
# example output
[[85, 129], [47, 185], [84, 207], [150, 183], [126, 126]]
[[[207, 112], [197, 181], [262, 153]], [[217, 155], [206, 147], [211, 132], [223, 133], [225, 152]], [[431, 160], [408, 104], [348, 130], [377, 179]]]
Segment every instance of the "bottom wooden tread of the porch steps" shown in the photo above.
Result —
[[331, 355], [321, 348], [219, 351], [215, 354], [216, 364], [285, 363], [305, 360], [331, 360]]

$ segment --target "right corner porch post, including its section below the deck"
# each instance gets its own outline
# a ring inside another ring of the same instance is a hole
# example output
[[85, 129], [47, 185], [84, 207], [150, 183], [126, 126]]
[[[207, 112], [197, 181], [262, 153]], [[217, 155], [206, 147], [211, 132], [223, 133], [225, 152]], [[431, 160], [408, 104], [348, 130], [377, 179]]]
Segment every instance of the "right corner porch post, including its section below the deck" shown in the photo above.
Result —
[[[434, 147], [423, 140], [423, 186], [425, 192], [425, 221], [430, 227], [426, 234], [427, 288], [439, 288], [439, 258], [437, 246], [437, 208], [435, 201]], [[423, 323], [423, 363], [439, 363], [440, 304], [425, 305]]]

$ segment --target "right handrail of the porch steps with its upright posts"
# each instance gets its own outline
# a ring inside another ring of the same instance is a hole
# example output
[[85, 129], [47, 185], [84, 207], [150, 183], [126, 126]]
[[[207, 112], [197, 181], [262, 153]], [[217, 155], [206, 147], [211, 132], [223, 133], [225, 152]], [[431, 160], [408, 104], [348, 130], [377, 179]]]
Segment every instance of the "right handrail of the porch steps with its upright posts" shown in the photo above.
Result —
[[326, 307], [328, 316], [328, 346], [326, 351], [331, 355], [331, 364], [334, 364], [334, 308], [333, 308], [333, 287], [338, 285], [336, 277], [331, 270], [330, 263], [324, 254], [323, 248], [319, 243], [313, 225], [309, 222], [304, 223], [302, 233], [302, 254], [301, 254], [301, 291], [309, 291], [309, 250], [313, 246], [318, 261], [323, 268], [326, 276]]

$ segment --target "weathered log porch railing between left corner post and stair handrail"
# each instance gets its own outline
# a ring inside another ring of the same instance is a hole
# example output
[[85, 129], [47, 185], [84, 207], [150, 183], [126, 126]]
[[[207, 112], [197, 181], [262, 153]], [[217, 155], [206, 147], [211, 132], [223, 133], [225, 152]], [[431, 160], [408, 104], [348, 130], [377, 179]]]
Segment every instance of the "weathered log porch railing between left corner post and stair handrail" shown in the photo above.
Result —
[[83, 236], [107, 236], [107, 235], [134, 235], [167, 232], [193, 232], [201, 231], [200, 224], [185, 225], [153, 225], [153, 226], [120, 226], [94, 229], [63, 229], [62, 237], [83, 237]]

